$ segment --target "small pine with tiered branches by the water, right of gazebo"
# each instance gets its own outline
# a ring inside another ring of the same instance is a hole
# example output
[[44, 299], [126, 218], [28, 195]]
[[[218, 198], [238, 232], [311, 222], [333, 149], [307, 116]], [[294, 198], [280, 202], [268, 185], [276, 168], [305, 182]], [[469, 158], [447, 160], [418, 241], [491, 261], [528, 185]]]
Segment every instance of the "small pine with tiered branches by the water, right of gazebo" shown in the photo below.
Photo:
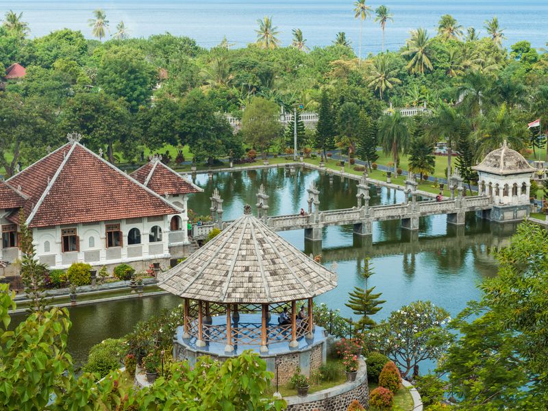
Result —
[[369, 258], [365, 258], [364, 269], [362, 271], [362, 275], [365, 279], [365, 287], [354, 287], [354, 290], [349, 292], [350, 298], [348, 303], [345, 304], [345, 306], [353, 310], [354, 314], [360, 314], [362, 316], [360, 320], [354, 323], [356, 329], [360, 331], [363, 331], [364, 329], [371, 329], [377, 325], [377, 323], [371, 319], [371, 315], [382, 310], [381, 305], [386, 303], [386, 301], [379, 299], [382, 292], [373, 294], [375, 287], [369, 288], [367, 286], [367, 281], [373, 274], [373, 269], [371, 269], [371, 265], [369, 264]]

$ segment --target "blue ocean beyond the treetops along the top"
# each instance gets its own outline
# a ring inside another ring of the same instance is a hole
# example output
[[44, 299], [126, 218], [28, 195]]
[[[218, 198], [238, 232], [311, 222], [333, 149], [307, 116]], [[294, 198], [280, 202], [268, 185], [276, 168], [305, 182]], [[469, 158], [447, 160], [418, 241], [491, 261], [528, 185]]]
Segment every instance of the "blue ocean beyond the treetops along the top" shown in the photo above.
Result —
[[[442, 14], [452, 14], [464, 27], [473, 26], [486, 34], [484, 21], [499, 18], [505, 28], [506, 47], [528, 40], [533, 47], [545, 47], [548, 41], [544, 27], [548, 20], [547, 0], [386, 0], [367, 1], [373, 8], [384, 4], [394, 14], [386, 27], [386, 48], [396, 50], [411, 29], [426, 27], [434, 36]], [[68, 27], [91, 37], [88, 19], [92, 11], [105, 10], [110, 32], [124, 21], [134, 37], [169, 32], [195, 38], [202, 47], [210, 48], [226, 36], [234, 47], [245, 47], [256, 40], [257, 19], [271, 16], [279, 31], [282, 45], [291, 42], [291, 30], [300, 28], [306, 44], [312, 48], [331, 44], [337, 32], [346, 32], [352, 47], [358, 51], [360, 23], [353, 16], [352, 0], [0, 0], [0, 16], [8, 10], [23, 12], [31, 36], [44, 36]], [[381, 49], [382, 32], [378, 23], [366, 20], [363, 26], [362, 55]]]

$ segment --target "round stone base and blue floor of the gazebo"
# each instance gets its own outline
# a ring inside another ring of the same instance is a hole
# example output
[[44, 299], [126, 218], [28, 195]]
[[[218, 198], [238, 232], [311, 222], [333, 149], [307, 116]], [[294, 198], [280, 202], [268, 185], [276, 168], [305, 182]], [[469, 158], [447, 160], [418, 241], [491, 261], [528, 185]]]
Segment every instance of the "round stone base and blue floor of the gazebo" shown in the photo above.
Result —
[[[198, 347], [195, 338], [182, 338], [182, 327], [177, 328], [175, 338], [173, 338], [173, 358], [177, 361], [187, 360], [190, 366], [193, 366], [201, 356], [211, 356], [221, 362], [227, 358], [238, 356], [246, 349], [252, 349], [259, 353], [260, 357], [266, 361], [266, 369], [272, 373], [278, 373], [278, 384], [286, 384], [292, 375], [301, 369], [301, 373], [310, 376], [310, 373], [319, 369], [327, 360], [327, 338], [324, 336], [322, 327], [314, 327], [314, 338], [308, 339], [301, 337], [297, 340], [299, 347], [290, 348], [288, 342], [271, 343], [268, 351], [262, 351], [260, 345], [247, 346], [232, 345], [234, 351], [226, 350], [225, 344], [206, 343], [205, 347]], [[276, 378], [273, 379], [273, 382]]]

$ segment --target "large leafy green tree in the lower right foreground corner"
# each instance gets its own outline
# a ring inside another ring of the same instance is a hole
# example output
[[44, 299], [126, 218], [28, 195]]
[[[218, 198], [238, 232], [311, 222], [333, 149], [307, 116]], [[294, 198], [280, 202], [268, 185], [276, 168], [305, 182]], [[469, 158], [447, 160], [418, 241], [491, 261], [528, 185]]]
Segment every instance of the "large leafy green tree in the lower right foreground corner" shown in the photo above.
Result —
[[451, 322], [456, 334], [440, 371], [460, 409], [542, 410], [548, 395], [545, 230], [522, 223], [496, 256], [498, 275], [484, 279], [481, 300]]

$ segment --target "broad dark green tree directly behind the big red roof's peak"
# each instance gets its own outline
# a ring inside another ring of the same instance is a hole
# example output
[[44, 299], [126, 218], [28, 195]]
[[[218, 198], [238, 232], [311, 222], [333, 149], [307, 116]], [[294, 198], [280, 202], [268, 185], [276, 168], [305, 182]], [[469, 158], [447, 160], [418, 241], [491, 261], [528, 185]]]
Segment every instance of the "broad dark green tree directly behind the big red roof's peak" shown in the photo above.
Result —
[[134, 155], [131, 115], [127, 103], [105, 92], [82, 92], [67, 101], [62, 112], [64, 132], [79, 132], [86, 146], [94, 151], [106, 149], [108, 160], [114, 163], [114, 143], [121, 143], [125, 153]]

